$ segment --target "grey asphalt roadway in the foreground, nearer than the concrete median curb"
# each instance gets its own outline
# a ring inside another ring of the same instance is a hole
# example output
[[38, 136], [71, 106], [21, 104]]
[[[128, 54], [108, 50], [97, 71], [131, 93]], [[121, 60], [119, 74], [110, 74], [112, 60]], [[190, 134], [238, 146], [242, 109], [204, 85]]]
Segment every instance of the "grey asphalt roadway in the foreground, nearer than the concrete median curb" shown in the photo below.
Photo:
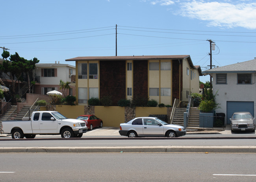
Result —
[[255, 154], [10, 153], [0, 160], [5, 182], [256, 181]]

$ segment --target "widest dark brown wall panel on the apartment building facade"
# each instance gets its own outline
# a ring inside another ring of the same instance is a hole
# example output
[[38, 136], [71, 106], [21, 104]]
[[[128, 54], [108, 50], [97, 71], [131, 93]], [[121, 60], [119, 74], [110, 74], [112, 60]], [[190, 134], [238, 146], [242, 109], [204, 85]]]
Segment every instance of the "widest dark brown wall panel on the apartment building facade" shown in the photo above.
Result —
[[112, 105], [126, 97], [126, 66], [123, 60], [100, 61], [100, 98], [111, 96]]

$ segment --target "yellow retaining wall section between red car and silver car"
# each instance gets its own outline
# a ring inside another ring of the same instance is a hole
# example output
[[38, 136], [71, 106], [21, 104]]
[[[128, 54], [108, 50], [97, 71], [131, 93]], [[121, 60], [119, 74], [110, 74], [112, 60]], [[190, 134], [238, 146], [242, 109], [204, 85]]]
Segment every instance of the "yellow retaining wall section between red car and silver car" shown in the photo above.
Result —
[[95, 106], [95, 116], [102, 119], [105, 127], [120, 127], [124, 123], [124, 107]]

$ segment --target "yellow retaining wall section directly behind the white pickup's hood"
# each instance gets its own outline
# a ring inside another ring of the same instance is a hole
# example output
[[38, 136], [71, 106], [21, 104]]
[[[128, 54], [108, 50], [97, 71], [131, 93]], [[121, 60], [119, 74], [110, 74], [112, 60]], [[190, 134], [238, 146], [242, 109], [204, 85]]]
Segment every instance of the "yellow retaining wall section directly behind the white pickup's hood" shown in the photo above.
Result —
[[83, 105], [56, 105], [56, 111], [63, 114], [67, 118], [76, 119], [78, 116], [84, 114]]

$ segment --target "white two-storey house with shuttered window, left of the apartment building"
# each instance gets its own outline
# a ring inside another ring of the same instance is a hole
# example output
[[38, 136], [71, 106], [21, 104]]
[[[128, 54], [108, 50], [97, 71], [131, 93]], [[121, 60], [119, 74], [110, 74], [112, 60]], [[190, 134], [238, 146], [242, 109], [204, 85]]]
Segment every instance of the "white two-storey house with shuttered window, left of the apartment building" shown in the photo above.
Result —
[[40, 84], [35, 85], [35, 94], [44, 94], [52, 90], [60, 90], [59, 81], [62, 80], [64, 83], [70, 82], [70, 90], [67, 95], [74, 96], [76, 93], [75, 83], [71, 81], [72, 75], [76, 75], [76, 67], [69, 64], [48, 63], [48, 64], [35, 64], [35, 70], [33, 73], [36, 75], [37, 82]]

